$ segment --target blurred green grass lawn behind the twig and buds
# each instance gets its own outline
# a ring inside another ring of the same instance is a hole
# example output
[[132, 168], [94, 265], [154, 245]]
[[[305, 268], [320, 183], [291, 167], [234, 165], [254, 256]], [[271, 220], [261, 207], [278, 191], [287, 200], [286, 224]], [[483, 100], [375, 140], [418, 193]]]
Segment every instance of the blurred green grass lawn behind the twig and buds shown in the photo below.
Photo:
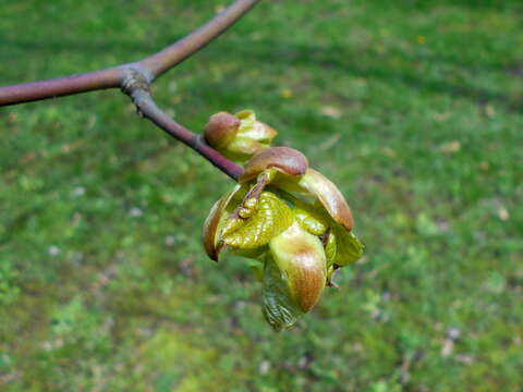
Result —
[[[0, 0], [0, 84], [139, 59], [224, 1]], [[264, 1], [160, 78], [254, 109], [366, 256], [275, 333], [202, 223], [232, 183], [118, 91], [0, 109], [1, 391], [521, 391], [523, 4]]]

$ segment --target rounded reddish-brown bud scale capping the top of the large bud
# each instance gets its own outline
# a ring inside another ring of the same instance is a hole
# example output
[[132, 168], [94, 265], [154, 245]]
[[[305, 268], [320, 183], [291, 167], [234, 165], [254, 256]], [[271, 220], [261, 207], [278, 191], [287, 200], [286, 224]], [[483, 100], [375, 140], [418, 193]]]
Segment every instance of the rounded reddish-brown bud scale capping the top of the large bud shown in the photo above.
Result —
[[253, 156], [245, 164], [245, 171], [239, 179], [240, 183], [255, 179], [267, 169], [277, 169], [287, 175], [305, 174], [308, 168], [307, 158], [294, 148], [271, 147]]

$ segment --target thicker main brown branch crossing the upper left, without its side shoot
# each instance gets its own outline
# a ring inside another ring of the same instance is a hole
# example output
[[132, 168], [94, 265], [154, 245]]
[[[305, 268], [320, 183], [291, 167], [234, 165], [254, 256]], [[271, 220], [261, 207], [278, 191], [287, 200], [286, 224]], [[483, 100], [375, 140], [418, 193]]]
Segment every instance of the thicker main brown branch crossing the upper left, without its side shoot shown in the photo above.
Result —
[[260, 0], [235, 0], [207, 24], [170, 47], [137, 62], [47, 81], [0, 87], [0, 107], [106, 88], [122, 87], [130, 72], [150, 84], [223, 33]]

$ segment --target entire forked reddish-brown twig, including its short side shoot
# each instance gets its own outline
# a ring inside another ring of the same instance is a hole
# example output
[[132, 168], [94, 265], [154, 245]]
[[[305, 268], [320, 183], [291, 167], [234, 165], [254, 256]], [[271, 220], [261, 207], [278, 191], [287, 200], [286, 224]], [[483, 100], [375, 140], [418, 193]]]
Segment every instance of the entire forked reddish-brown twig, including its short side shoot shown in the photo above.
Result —
[[169, 135], [196, 150], [230, 177], [238, 180], [243, 168], [231, 162], [161, 111], [149, 95], [150, 84], [218, 37], [260, 0], [235, 0], [223, 12], [166, 49], [143, 60], [105, 70], [47, 81], [0, 87], [0, 107], [73, 94], [120, 87], [138, 110]]

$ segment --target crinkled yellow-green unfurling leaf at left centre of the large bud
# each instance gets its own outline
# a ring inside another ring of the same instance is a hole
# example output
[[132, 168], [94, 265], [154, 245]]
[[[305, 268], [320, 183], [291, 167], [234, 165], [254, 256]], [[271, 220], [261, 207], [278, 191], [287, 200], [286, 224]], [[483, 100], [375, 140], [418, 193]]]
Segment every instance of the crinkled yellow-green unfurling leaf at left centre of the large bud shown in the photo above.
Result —
[[276, 235], [289, 228], [293, 212], [272, 192], [263, 192], [248, 218], [232, 218], [221, 233], [224, 244], [248, 249], [268, 244]]

